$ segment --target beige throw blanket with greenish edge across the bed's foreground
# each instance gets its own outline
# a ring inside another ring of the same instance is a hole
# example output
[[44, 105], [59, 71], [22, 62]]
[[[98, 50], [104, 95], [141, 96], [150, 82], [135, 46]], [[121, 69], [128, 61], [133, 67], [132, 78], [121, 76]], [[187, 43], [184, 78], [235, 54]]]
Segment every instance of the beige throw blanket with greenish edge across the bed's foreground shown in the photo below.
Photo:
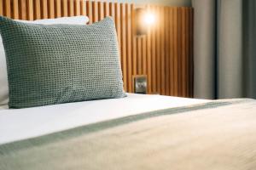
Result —
[[256, 101], [217, 100], [0, 145], [1, 170], [253, 170]]

